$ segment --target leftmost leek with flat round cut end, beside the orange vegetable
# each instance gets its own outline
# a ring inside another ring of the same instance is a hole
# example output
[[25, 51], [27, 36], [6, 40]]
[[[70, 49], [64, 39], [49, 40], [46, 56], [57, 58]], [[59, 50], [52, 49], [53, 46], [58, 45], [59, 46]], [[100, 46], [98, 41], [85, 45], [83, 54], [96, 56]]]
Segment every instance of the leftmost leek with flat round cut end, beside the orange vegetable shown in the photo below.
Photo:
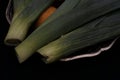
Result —
[[20, 2], [18, 0], [22, 5], [19, 5], [17, 8], [20, 11], [16, 10], [16, 13], [13, 15], [8, 34], [5, 38], [5, 44], [13, 46], [23, 41], [31, 24], [53, 1], [54, 0], [22, 0]]

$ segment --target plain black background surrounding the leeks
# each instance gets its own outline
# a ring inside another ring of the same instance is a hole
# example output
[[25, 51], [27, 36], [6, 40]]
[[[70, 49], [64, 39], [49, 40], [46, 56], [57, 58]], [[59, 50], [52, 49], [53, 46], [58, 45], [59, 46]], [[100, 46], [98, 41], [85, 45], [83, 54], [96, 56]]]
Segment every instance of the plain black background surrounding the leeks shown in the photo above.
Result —
[[34, 54], [27, 61], [19, 64], [14, 47], [4, 45], [4, 38], [9, 28], [5, 18], [8, 0], [0, 0], [0, 80], [40, 80], [40, 79], [112, 79], [120, 80], [120, 39], [114, 46], [99, 56], [69, 62], [57, 61], [45, 64], [40, 55]]

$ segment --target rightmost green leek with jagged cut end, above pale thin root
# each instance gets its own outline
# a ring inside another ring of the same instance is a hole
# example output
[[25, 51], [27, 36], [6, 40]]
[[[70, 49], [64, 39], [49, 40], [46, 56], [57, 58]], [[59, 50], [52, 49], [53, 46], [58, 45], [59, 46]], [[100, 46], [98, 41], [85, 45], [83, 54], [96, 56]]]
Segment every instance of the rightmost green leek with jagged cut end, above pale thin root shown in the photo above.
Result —
[[74, 51], [120, 36], [120, 11], [106, 15], [42, 47], [38, 52], [46, 63], [68, 56]]

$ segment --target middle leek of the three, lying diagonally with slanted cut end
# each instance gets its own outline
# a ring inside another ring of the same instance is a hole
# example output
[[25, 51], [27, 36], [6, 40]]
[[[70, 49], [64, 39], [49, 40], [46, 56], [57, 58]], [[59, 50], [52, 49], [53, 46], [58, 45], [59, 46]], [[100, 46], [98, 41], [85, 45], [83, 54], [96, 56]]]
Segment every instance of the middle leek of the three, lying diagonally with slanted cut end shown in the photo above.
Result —
[[[15, 48], [19, 62], [25, 61], [36, 50], [60, 36], [120, 8], [119, 0], [87, 0], [87, 2], [90, 3], [87, 7], [76, 6], [76, 8], [57, 17], [47, 25], [38, 27], [33, 31]], [[83, 4], [87, 5], [87, 2]]]

